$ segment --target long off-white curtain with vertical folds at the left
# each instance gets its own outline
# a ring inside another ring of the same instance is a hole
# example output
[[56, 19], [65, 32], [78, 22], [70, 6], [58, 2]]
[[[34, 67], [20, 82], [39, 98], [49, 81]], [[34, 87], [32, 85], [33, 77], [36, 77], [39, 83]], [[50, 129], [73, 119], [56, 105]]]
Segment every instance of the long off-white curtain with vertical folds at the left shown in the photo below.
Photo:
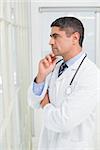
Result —
[[0, 1], [0, 150], [31, 149], [30, 3]]

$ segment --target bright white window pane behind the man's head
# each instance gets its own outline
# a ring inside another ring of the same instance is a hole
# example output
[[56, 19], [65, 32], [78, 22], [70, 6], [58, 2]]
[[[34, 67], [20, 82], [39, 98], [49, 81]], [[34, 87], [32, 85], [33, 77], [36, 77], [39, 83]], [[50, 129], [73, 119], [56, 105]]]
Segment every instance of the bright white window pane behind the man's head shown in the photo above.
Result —
[[[42, 9], [41, 9], [42, 11]], [[50, 35], [50, 24], [57, 18], [61, 16], [73, 16], [80, 19], [85, 28], [85, 39], [83, 43], [83, 49], [88, 53], [88, 57], [95, 62], [96, 57], [96, 43], [95, 43], [95, 27], [96, 27], [96, 15], [95, 12], [89, 11], [65, 11], [65, 12], [42, 12], [41, 13], [41, 50], [42, 55], [50, 52], [49, 46], [49, 35]]]

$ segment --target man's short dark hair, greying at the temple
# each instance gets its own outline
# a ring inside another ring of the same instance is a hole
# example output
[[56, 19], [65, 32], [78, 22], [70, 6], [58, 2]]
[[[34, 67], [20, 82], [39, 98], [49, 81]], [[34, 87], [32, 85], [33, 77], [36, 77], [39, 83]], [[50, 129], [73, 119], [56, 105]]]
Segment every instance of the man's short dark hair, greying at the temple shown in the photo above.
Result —
[[71, 36], [74, 32], [80, 34], [79, 45], [82, 47], [84, 39], [84, 26], [82, 22], [75, 17], [61, 17], [52, 22], [51, 27], [57, 26], [61, 30], [66, 31], [67, 36]]

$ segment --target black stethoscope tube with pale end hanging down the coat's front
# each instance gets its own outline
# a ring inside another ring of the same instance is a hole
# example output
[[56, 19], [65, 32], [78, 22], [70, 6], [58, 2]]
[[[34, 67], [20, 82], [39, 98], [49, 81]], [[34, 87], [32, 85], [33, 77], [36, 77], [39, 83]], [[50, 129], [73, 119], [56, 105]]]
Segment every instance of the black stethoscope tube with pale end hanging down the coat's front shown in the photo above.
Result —
[[67, 89], [65, 91], [65, 94], [70, 95], [72, 93], [72, 83], [75, 80], [75, 77], [76, 77], [76, 75], [77, 75], [77, 73], [78, 73], [78, 71], [79, 71], [79, 69], [80, 69], [80, 67], [81, 67], [81, 65], [84, 62], [86, 57], [87, 57], [87, 54], [85, 54], [84, 58], [82, 59], [81, 63], [79, 64], [75, 74], [73, 75], [73, 77], [72, 77], [72, 79], [71, 79], [71, 81], [70, 81], [70, 83], [69, 83], [69, 85], [68, 85], [68, 87], [67, 87]]

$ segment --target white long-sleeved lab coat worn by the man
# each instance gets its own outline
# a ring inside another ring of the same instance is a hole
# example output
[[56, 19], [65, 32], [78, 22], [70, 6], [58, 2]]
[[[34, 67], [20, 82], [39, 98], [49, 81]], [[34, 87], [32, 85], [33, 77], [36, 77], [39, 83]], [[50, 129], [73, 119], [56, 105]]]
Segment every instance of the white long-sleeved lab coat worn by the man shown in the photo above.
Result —
[[50, 103], [43, 108], [44, 124], [38, 150], [93, 150], [96, 106], [100, 99], [100, 71], [88, 58], [80, 67], [67, 94], [69, 83], [84, 54], [58, 78], [59, 62], [48, 75], [40, 96], [28, 90], [28, 102], [35, 107], [49, 91]]

